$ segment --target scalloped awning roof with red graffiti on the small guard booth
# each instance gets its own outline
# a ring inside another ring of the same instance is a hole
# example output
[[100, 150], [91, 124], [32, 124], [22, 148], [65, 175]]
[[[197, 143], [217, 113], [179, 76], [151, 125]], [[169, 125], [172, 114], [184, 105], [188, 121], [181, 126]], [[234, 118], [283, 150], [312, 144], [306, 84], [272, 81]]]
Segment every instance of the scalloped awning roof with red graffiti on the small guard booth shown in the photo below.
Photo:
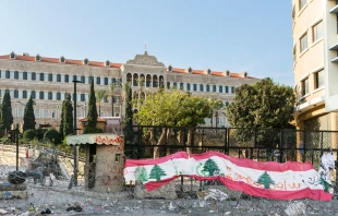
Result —
[[90, 134], [67, 136], [68, 145], [85, 145], [85, 144], [121, 145], [122, 143], [123, 137], [112, 133], [90, 133]]

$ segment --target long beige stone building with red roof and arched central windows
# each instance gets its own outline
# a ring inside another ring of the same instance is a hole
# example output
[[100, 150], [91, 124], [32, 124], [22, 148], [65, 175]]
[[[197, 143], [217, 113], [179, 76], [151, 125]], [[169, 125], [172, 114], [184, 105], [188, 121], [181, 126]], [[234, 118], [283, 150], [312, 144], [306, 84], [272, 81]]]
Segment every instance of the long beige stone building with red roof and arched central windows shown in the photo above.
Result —
[[[215, 96], [227, 106], [234, 96], [234, 88], [240, 85], [253, 84], [258, 79], [249, 76], [246, 72], [217, 72], [210, 69], [194, 70], [165, 67], [156, 57], [136, 55], [125, 63], [110, 61], [89, 61], [60, 58], [47, 58], [29, 53], [14, 52], [0, 56], [0, 96], [10, 91], [14, 123], [23, 125], [24, 107], [32, 95], [36, 105], [35, 118], [37, 127], [59, 128], [61, 105], [67, 93], [73, 94], [73, 80], [76, 84], [79, 118], [86, 117], [89, 94], [89, 82], [94, 79], [95, 89], [106, 89], [110, 94], [110, 83], [132, 82], [133, 97], [146, 97], [148, 92], [158, 91], [160, 86], [178, 87], [194, 95]], [[142, 82], [143, 86], [138, 86]], [[142, 91], [141, 91], [142, 89]], [[117, 87], [113, 95], [113, 116], [123, 118], [123, 98], [121, 88]], [[111, 97], [100, 103], [100, 117], [111, 117]], [[121, 113], [122, 112], [122, 113]], [[228, 127], [229, 123], [219, 112], [218, 117], [206, 119], [206, 125]]]

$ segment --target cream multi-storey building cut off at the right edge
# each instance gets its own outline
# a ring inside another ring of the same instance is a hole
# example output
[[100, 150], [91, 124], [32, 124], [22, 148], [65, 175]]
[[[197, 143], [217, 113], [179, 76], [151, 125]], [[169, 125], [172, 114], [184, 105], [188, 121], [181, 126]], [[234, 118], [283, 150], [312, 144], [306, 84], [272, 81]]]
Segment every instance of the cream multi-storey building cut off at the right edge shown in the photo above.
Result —
[[337, 33], [337, 0], [292, 0], [298, 129], [338, 130]]

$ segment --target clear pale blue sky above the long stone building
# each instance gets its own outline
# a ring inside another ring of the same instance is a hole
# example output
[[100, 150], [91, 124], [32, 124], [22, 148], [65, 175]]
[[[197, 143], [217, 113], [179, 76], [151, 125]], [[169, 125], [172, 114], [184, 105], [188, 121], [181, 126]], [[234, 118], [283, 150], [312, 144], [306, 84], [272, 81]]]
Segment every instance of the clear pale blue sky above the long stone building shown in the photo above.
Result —
[[293, 86], [290, 0], [2, 0], [0, 55], [248, 71]]

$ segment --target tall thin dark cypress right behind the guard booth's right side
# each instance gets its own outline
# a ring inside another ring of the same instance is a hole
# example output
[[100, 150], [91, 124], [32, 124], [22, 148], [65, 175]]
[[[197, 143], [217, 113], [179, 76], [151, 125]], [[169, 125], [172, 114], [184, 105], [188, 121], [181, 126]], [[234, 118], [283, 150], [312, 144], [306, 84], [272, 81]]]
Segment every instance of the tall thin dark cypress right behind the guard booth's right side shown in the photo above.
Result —
[[123, 134], [126, 144], [131, 144], [134, 140], [133, 131], [133, 104], [132, 104], [132, 87], [128, 82], [123, 85], [125, 95], [125, 115], [123, 120]]

